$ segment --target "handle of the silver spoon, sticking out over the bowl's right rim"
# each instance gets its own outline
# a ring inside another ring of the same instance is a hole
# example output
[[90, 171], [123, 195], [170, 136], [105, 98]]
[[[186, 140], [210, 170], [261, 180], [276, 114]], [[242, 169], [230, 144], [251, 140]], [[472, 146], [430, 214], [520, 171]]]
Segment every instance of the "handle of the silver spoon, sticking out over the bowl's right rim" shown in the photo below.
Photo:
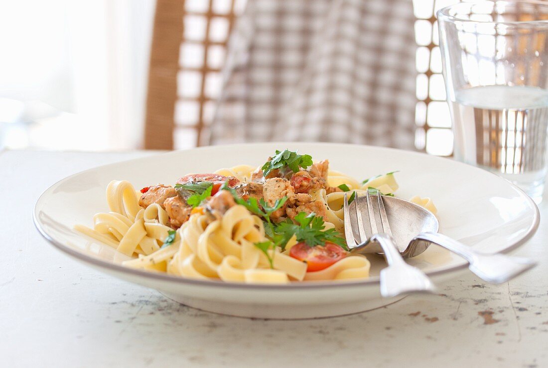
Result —
[[430, 241], [460, 255], [469, 262], [470, 271], [484, 281], [493, 284], [509, 281], [536, 264], [536, 262], [528, 258], [519, 258], [498, 253], [479, 253], [461, 242], [436, 232], [420, 233], [414, 240]]

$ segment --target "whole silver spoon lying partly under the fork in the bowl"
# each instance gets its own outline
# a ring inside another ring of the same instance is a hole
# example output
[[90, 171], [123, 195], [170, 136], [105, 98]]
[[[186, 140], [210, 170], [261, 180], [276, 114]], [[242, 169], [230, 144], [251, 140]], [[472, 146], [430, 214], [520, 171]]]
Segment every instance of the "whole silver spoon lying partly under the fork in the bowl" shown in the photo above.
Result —
[[[489, 283], [499, 284], [516, 277], [533, 267], [536, 262], [505, 254], [477, 252], [469, 246], [438, 233], [439, 223], [435, 215], [413, 202], [397, 197], [372, 196], [373, 213], [389, 220], [390, 233], [403, 258], [423, 253], [432, 243], [460, 255], [469, 262], [470, 271]], [[383, 205], [379, 206], [379, 201]], [[382, 212], [385, 211], [383, 214]], [[407, 244], [407, 245], [406, 245]], [[383, 253], [378, 242], [368, 242], [351, 250], [352, 253]]]

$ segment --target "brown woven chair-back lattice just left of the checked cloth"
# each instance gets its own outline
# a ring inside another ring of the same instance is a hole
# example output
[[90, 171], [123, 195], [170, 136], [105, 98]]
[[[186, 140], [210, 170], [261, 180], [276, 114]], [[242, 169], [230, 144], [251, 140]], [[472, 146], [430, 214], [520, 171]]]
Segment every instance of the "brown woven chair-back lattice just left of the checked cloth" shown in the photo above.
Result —
[[246, 0], [184, 0], [174, 147], [195, 147], [211, 122], [228, 35]]

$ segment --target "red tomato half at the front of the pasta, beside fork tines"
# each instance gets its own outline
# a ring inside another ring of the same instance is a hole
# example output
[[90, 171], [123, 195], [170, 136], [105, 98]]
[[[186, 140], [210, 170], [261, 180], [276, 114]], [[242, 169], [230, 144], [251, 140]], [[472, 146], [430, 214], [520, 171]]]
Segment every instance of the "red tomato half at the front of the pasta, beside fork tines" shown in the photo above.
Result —
[[326, 242], [325, 246], [309, 246], [305, 242], [296, 243], [289, 250], [289, 255], [306, 262], [306, 271], [321, 271], [346, 257], [346, 250], [335, 243]]

